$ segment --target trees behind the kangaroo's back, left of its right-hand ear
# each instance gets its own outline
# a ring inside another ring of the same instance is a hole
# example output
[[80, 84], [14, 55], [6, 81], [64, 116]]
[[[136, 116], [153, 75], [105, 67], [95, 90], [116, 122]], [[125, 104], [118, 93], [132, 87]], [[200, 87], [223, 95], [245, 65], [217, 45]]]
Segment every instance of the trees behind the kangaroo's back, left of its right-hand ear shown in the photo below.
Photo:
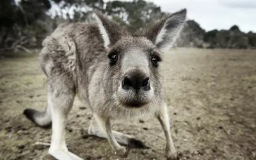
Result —
[[[56, 6], [61, 12], [52, 17], [54, 13], [49, 11]], [[90, 19], [93, 9], [106, 13], [131, 31], [140, 29], [150, 19], [164, 15], [159, 6], [143, 0], [108, 3], [103, 0], [2, 0], [0, 51], [38, 47], [58, 23], [86, 21]], [[70, 10], [72, 14], [67, 13]]]

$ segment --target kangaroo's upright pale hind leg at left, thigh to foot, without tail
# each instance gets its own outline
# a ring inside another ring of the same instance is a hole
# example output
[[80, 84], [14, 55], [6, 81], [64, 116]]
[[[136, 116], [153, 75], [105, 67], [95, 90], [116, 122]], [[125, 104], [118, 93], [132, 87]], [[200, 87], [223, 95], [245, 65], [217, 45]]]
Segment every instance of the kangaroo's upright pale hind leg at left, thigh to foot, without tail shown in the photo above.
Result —
[[60, 160], [81, 160], [68, 152], [65, 141], [67, 115], [75, 97], [74, 84], [65, 76], [48, 77], [48, 103], [51, 106], [52, 139], [49, 154]]

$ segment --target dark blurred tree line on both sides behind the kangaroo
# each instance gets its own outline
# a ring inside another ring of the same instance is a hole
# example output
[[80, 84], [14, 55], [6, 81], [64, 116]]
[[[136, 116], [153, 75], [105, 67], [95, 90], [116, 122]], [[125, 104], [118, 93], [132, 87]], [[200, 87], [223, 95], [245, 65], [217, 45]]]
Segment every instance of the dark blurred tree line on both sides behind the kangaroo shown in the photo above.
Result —
[[[45, 36], [49, 35], [61, 22], [92, 20], [93, 9], [106, 13], [131, 32], [140, 30], [150, 20], [159, 19], [167, 14], [162, 12], [156, 4], [144, 0], [108, 2], [104, 0], [2, 0], [0, 1], [0, 53], [20, 51], [20, 49], [29, 51], [28, 48], [40, 47]], [[232, 42], [219, 43], [220, 40], [228, 41], [229, 36], [234, 35], [237, 29], [233, 28], [230, 31], [232, 34], [217, 30], [205, 32], [195, 21], [188, 20], [177, 45], [204, 47], [204, 44], [208, 44], [205, 46], [236, 48], [238, 45], [234, 42], [239, 41], [239, 36], [235, 39], [231, 38]], [[240, 48], [256, 47], [255, 33], [245, 35], [249, 44], [239, 44]], [[244, 41], [244, 37], [242, 39], [240, 41]]]

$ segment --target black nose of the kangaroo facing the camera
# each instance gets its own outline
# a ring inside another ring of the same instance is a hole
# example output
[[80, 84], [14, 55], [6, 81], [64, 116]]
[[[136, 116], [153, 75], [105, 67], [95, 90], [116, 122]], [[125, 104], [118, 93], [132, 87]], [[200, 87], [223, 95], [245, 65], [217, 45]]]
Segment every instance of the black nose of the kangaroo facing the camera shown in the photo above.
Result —
[[134, 90], [140, 90], [140, 88], [143, 88], [143, 90], [150, 90], [149, 77], [141, 75], [125, 76], [122, 81], [122, 88], [124, 90], [129, 90], [131, 88]]

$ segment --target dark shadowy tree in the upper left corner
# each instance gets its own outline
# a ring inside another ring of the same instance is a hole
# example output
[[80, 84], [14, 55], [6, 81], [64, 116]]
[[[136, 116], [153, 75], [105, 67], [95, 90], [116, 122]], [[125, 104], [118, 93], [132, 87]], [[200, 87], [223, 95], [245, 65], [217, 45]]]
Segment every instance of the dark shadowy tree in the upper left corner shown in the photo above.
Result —
[[38, 19], [46, 15], [51, 8], [49, 0], [0, 1], [0, 48], [2, 51], [23, 47], [35, 39]]

